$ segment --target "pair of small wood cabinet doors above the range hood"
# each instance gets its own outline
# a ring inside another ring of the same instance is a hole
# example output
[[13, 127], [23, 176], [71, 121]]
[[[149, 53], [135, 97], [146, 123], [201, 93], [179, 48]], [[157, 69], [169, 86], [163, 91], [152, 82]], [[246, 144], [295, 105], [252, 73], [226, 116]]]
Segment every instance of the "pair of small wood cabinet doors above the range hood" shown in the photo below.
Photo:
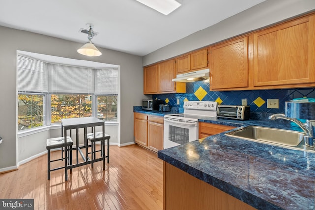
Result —
[[176, 74], [206, 68], [208, 66], [208, 48], [182, 55], [175, 60]]

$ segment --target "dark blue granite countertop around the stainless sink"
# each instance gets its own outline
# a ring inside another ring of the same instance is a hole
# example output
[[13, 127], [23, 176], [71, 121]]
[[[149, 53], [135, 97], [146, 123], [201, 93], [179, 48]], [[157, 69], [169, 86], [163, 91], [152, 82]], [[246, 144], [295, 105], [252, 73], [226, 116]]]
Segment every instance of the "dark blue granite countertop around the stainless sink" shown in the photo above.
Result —
[[[199, 121], [291, 129], [283, 120]], [[228, 132], [228, 131], [227, 131]], [[158, 151], [158, 157], [260, 210], [315, 208], [315, 153], [221, 134]]]

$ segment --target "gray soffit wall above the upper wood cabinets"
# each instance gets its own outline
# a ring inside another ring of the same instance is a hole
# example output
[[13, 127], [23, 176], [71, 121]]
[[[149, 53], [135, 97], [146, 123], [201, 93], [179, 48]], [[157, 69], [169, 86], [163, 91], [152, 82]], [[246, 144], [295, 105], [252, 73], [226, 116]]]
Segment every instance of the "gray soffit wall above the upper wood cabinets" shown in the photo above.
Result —
[[267, 0], [144, 56], [143, 66], [166, 60], [314, 9], [315, 0]]

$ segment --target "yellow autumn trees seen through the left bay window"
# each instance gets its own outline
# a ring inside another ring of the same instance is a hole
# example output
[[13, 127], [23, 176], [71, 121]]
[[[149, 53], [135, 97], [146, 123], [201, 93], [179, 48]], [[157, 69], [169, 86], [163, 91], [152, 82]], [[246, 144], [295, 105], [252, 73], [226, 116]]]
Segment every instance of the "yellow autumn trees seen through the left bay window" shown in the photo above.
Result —
[[18, 94], [18, 129], [44, 124], [44, 95]]

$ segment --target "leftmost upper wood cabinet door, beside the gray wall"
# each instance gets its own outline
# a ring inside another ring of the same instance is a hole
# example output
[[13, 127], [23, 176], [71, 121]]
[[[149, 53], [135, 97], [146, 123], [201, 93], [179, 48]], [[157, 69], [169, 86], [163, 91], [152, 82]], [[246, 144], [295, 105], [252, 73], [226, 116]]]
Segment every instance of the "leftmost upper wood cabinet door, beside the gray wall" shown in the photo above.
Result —
[[143, 94], [158, 93], [158, 65], [143, 69]]

